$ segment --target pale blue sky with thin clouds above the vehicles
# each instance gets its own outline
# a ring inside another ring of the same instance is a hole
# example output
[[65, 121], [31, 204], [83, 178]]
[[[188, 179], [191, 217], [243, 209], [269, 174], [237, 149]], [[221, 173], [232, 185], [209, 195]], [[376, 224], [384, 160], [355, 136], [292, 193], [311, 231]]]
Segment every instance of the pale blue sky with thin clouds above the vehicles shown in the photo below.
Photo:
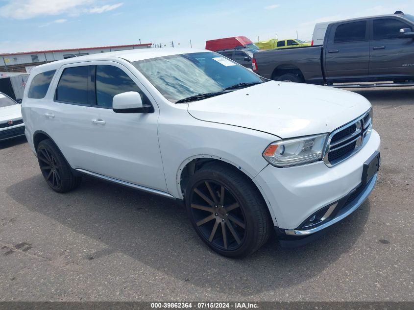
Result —
[[245, 35], [310, 41], [315, 23], [414, 14], [412, 0], [0, 0], [0, 53]]

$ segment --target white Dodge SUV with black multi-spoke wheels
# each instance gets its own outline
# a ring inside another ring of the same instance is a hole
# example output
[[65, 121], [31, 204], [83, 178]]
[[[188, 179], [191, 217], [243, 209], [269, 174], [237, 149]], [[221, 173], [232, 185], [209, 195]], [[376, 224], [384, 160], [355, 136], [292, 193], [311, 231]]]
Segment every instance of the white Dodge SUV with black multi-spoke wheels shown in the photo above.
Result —
[[380, 137], [363, 96], [269, 81], [207, 50], [41, 65], [22, 106], [51, 189], [87, 174], [183, 200], [226, 256], [252, 253], [273, 229], [303, 241], [357, 209], [377, 179]]

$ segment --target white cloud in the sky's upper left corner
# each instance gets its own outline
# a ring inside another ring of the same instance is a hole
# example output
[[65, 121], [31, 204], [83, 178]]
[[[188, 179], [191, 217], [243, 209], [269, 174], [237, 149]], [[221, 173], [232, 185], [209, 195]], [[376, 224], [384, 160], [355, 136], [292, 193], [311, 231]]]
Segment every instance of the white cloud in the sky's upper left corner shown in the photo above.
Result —
[[91, 7], [96, 0], [7, 0], [5, 2], [7, 4], [0, 6], [0, 16], [17, 20], [59, 14], [77, 16], [82, 13], [102, 13], [112, 11], [123, 4], [121, 2]]

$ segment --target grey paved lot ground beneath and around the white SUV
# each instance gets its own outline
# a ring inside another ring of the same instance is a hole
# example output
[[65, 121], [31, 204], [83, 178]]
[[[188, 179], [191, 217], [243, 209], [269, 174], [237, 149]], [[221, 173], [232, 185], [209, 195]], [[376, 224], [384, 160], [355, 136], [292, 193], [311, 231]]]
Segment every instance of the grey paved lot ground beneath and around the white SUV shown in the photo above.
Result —
[[414, 301], [414, 88], [355, 91], [382, 138], [375, 190], [314, 243], [243, 260], [169, 199], [89, 178], [58, 194], [24, 138], [0, 144], [0, 301]]

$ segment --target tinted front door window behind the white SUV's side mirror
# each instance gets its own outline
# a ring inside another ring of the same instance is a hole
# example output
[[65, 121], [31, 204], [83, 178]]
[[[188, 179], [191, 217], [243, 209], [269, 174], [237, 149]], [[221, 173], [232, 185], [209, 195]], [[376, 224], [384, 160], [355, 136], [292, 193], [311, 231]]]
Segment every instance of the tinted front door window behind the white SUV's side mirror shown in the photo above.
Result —
[[125, 92], [138, 92], [144, 104], [150, 104], [135, 82], [121, 69], [114, 66], [97, 66], [97, 105], [112, 108], [115, 95]]

